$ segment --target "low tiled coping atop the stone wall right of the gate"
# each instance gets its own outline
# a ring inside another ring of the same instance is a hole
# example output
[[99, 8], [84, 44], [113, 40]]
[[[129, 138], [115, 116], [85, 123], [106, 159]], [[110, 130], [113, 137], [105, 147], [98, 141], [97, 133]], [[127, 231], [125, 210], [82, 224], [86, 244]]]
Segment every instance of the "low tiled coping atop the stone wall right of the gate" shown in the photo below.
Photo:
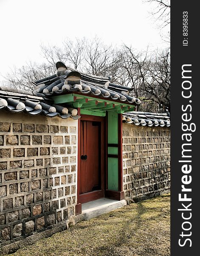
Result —
[[169, 113], [149, 113], [132, 111], [124, 113], [123, 122], [141, 126], [170, 126]]

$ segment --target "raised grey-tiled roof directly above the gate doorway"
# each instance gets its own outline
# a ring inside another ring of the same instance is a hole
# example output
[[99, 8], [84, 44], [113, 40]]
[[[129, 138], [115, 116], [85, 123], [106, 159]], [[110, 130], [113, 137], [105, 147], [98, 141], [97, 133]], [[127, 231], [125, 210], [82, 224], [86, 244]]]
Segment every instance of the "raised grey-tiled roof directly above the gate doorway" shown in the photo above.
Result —
[[79, 72], [62, 62], [56, 63], [57, 74], [35, 81], [34, 95], [51, 96], [79, 92], [112, 100], [140, 105], [140, 99], [129, 96], [132, 88], [113, 84], [109, 77], [93, 76]]

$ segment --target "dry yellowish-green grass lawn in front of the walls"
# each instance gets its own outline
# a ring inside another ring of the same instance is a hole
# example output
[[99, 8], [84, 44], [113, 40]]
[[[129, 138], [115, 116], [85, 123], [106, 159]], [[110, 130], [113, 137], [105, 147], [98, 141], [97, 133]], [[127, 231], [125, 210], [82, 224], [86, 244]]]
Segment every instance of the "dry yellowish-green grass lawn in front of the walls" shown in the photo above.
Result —
[[170, 195], [131, 204], [10, 256], [169, 256]]

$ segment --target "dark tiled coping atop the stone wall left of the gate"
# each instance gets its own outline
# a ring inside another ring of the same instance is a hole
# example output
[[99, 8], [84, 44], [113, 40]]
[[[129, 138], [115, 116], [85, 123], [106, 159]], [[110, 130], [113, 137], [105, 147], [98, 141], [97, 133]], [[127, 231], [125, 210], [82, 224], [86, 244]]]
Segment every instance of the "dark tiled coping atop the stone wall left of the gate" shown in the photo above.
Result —
[[59, 116], [79, 119], [77, 110], [53, 104], [49, 99], [34, 96], [33, 93], [9, 87], [0, 87], [0, 110], [12, 113], [25, 112], [32, 116], [42, 114], [48, 117]]

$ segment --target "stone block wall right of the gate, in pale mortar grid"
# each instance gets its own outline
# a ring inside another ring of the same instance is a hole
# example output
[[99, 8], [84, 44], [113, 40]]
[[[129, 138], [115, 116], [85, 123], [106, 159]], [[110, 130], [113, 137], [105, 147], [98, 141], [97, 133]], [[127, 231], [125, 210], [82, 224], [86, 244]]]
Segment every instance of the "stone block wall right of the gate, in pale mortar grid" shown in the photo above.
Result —
[[128, 202], [170, 188], [170, 130], [123, 123], [123, 185]]

